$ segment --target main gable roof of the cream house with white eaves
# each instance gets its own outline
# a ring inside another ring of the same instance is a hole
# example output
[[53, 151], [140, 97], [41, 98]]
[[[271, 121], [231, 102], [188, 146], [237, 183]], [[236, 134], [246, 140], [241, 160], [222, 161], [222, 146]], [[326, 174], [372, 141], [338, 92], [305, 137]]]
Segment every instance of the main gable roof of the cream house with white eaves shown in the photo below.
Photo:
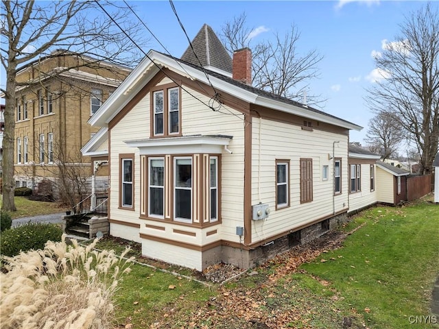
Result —
[[[141, 63], [123, 80], [122, 84], [115, 90], [107, 101], [93, 114], [88, 123], [95, 126], [105, 127], [110, 121], [128, 104], [128, 102], [158, 73], [161, 69], [167, 68], [179, 75], [191, 80], [198, 80], [204, 84], [213, 84], [215, 89], [228, 95], [233, 95], [242, 101], [252, 103], [273, 110], [298, 115], [307, 119], [314, 119], [346, 129], [361, 130], [362, 127], [344, 119], [340, 119], [326, 112], [316, 110], [309, 106], [273, 95], [265, 90], [260, 90], [247, 84], [243, 84], [231, 77], [219, 74], [214, 71], [202, 69], [189, 62], [179, 60], [172, 56], [151, 50]], [[209, 76], [209, 79], [207, 76]]]

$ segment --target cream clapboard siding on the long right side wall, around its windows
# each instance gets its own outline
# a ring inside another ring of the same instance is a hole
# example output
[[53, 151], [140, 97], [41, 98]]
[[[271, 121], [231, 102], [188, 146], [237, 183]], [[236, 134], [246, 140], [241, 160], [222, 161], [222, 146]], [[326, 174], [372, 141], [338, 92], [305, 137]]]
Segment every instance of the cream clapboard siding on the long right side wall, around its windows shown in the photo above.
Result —
[[[252, 132], [252, 204], [262, 202], [271, 209], [268, 219], [252, 221], [252, 242], [294, 230], [347, 208], [348, 136], [322, 130], [309, 132], [298, 125], [265, 119], [254, 119]], [[335, 157], [342, 158], [342, 194], [335, 197], [333, 160], [329, 159], [333, 141], [340, 142], [335, 144]], [[313, 160], [313, 202], [304, 204], [300, 204], [300, 158]], [[275, 210], [276, 159], [290, 160], [290, 206], [279, 210]], [[329, 166], [328, 180], [322, 180], [323, 165]]]

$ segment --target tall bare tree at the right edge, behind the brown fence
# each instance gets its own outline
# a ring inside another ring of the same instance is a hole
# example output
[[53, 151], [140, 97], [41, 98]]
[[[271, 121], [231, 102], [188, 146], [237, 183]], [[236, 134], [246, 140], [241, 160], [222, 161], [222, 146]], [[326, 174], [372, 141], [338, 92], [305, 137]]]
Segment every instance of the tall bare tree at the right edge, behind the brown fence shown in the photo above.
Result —
[[368, 90], [376, 113], [394, 114], [420, 156], [420, 173], [431, 173], [439, 141], [439, 12], [427, 3], [407, 16], [401, 35], [375, 58], [383, 80]]

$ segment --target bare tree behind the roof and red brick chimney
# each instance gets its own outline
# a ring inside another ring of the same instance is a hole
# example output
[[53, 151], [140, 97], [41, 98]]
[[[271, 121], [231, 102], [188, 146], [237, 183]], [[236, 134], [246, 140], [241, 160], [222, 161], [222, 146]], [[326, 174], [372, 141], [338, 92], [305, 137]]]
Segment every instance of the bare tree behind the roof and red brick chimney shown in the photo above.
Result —
[[316, 50], [300, 55], [300, 32], [295, 25], [284, 36], [274, 34], [274, 42], [263, 40], [252, 45], [254, 29], [246, 27], [246, 14], [235, 16], [226, 22], [220, 36], [226, 49], [252, 49], [253, 86], [274, 95], [287, 97], [315, 105], [321, 103], [320, 95], [307, 95], [309, 81], [318, 77], [318, 63], [322, 56]]

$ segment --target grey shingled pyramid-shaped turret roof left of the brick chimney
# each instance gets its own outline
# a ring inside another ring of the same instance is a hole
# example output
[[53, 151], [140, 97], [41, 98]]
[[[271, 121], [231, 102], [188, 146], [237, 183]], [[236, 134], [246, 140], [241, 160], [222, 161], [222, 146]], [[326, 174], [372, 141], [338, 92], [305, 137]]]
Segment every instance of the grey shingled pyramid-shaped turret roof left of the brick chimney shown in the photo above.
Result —
[[205, 69], [232, 76], [232, 58], [212, 27], [204, 24], [193, 38], [191, 45], [181, 56], [182, 60], [196, 66], [200, 66], [201, 63]]

